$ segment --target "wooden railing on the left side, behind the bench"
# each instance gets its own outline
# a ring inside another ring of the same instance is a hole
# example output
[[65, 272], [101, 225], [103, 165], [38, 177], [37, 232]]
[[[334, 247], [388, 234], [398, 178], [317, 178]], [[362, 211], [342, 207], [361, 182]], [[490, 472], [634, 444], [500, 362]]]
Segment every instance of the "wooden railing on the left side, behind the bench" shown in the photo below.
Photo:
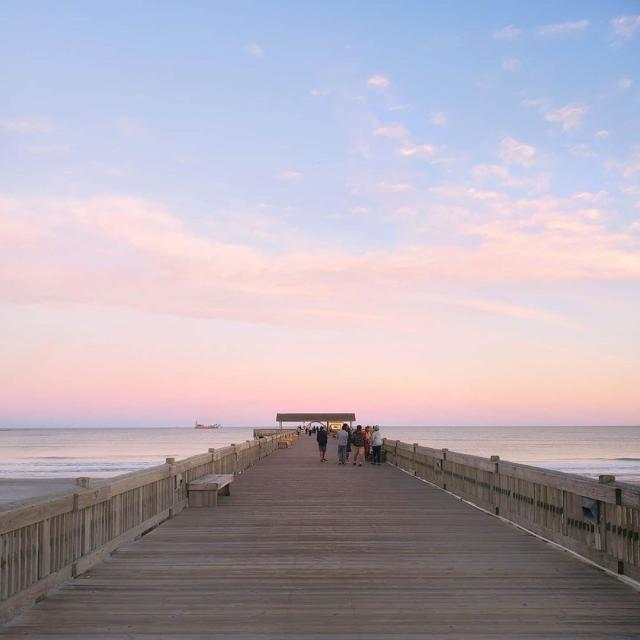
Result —
[[0, 621], [77, 576], [187, 506], [187, 484], [209, 473], [242, 473], [290, 433], [117, 476], [77, 492], [0, 512]]

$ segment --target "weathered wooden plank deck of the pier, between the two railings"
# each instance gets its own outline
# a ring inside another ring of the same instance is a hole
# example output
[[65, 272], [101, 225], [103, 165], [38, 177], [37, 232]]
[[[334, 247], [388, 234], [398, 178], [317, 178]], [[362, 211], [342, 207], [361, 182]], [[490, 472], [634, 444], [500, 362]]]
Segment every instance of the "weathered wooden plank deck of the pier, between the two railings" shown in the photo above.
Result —
[[302, 436], [0, 638], [640, 638], [640, 595], [391, 466]]

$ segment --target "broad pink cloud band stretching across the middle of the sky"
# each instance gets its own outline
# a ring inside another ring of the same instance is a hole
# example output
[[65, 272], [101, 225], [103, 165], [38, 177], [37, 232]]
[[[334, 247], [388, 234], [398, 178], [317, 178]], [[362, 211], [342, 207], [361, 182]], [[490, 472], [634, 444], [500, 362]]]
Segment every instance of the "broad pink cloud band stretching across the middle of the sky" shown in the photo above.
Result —
[[[392, 190], [411, 188], [391, 185]], [[365, 297], [375, 292], [385, 313], [402, 317], [404, 310], [391, 301], [402, 292], [424, 295], [429, 284], [640, 282], [640, 237], [608, 231], [597, 199], [512, 199], [466, 186], [431, 190], [431, 195], [442, 204], [446, 241], [437, 241], [434, 217], [428, 245], [362, 253], [300, 238], [277, 255], [197, 233], [172, 212], [136, 198], [0, 198], [0, 298], [254, 322], [295, 322], [314, 315], [343, 322], [332, 310], [349, 305], [354, 287], [364, 289]], [[477, 210], [460, 201], [474, 202]], [[367, 208], [356, 207], [354, 213]], [[392, 216], [399, 224], [424, 224], [423, 208], [401, 204]], [[99, 259], [105, 251], [118, 262]], [[563, 322], [553, 311], [477, 296], [454, 297], [451, 303]]]

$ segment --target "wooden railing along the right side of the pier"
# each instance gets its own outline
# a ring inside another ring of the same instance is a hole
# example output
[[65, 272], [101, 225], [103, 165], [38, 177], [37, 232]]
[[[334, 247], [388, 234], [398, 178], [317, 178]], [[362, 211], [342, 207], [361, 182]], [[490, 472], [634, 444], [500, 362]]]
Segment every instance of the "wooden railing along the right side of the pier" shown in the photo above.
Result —
[[387, 462], [640, 580], [640, 487], [385, 440]]

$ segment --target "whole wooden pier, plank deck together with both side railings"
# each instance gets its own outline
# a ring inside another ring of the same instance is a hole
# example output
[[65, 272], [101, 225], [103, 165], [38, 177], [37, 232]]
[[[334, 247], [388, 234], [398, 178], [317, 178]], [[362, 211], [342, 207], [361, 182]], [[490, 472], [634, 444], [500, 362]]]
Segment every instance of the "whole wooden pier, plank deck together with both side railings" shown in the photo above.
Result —
[[[320, 463], [283, 430], [3, 514], [0, 638], [640, 637], [637, 590], [531, 533], [635, 577], [637, 489], [390, 441], [390, 464], [339, 466], [335, 449]], [[186, 507], [214, 471], [231, 495]], [[78, 539], [52, 533], [60, 508]]]

